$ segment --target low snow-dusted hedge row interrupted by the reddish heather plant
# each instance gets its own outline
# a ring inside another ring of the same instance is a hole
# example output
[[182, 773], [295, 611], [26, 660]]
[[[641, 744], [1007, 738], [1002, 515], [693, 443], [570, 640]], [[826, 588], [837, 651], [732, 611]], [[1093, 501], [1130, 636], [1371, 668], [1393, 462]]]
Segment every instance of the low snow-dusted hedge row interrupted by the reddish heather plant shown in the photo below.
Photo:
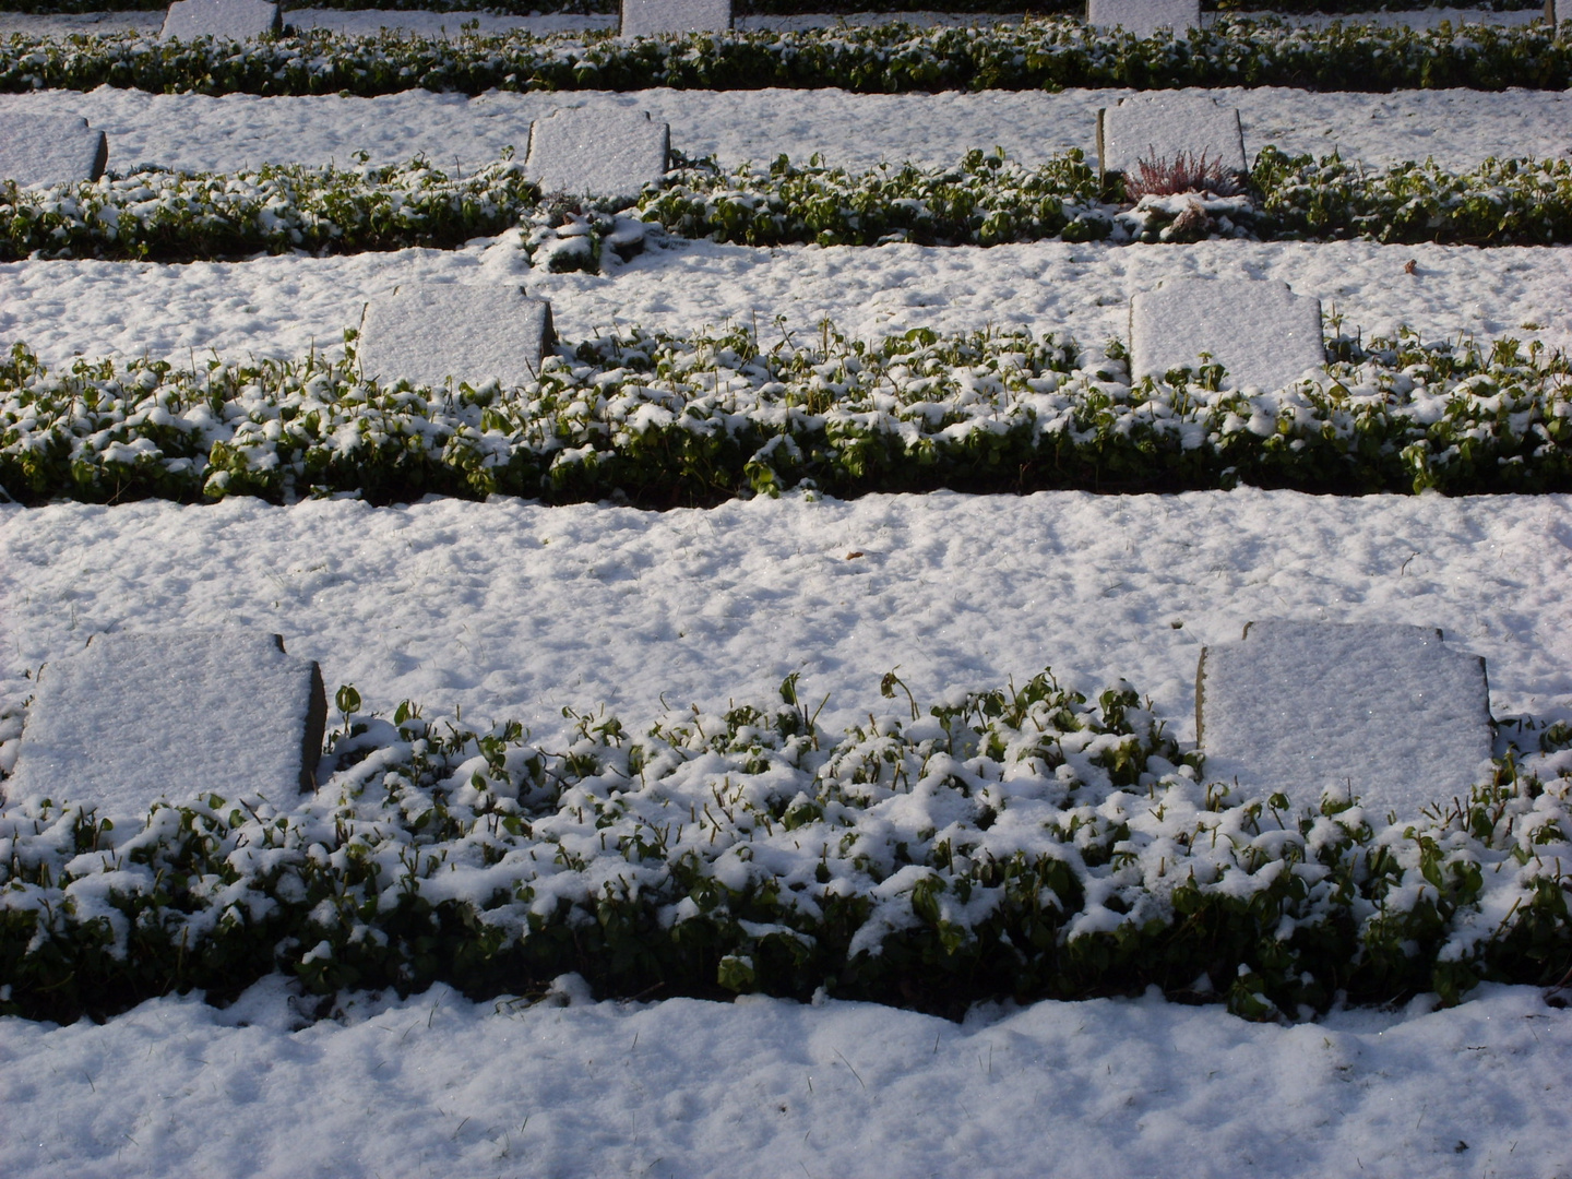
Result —
[[[882, 165], [854, 173], [781, 156], [767, 170], [679, 160], [632, 204], [542, 195], [511, 159], [450, 176], [407, 165], [266, 165], [230, 174], [138, 171], [17, 189], [0, 182], [0, 259], [195, 261], [258, 252], [354, 253], [456, 247], [522, 228], [519, 247], [553, 270], [602, 263], [608, 237], [641, 220], [684, 237], [745, 245], [817, 242], [997, 245], [1031, 241], [1237, 237], [1520, 245], [1572, 242], [1572, 162], [1486, 160], [1467, 173], [1434, 162], [1368, 171], [1265, 148], [1247, 200], [1203, 200], [1212, 215], [1179, 234], [1185, 201], [1118, 201], [1080, 151], [1025, 168], [971, 151], [951, 168]], [[1104, 200], [1108, 198], [1108, 200]], [[1198, 206], [1199, 208], [1199, 206]]]

